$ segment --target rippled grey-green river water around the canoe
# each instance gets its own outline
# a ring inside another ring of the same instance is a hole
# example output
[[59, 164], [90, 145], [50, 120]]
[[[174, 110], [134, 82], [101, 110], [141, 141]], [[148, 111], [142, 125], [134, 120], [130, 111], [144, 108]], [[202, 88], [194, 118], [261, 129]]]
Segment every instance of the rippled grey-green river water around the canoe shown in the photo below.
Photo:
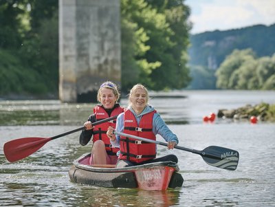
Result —
[[[169, 95], [170, 97], [165, 97]], [[100, 188], [70, 182], [72, 162], [90, 151], [79, 132], [47, 142], [39, 151], [9, 163], [3, 144], [25, 137], [52, 137], [83, 125], [94, 104], [58, 100], [0, 101], [0, 206], [275, 206], [275, 123], [202, 117], [218, 109], [275, 103], [275, 91], [174, 91], [153, 94], [151, 105], [178, 135], [179, 146], [223, 146], [239, 151], [236, 171], [209, 166], [200, 155], [158, 146], [158, 155], [179, 158], [179, 189], [145, 191]], [[126, 106], [122, 98], [121, 105]], [[157, 137], [159, 141], [164, 141]]]

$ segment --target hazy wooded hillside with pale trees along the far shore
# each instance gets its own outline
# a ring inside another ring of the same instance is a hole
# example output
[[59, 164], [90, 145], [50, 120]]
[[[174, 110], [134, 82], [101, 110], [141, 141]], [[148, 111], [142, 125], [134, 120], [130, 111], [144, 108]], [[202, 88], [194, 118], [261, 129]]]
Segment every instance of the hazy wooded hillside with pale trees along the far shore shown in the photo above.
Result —
[[275, 89], [275, 24], [190, 36], [190, 89]]

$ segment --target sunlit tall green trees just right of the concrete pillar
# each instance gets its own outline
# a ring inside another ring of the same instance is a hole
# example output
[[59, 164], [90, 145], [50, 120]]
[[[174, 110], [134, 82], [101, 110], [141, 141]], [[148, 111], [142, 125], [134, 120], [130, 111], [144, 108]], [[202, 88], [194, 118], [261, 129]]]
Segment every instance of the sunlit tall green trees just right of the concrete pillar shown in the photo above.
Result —
[[122, 87], [137, 82], [155, 90], [186, 87], [188, 8], [179, 1], [144, 0], [122, 0], [121, 8]]

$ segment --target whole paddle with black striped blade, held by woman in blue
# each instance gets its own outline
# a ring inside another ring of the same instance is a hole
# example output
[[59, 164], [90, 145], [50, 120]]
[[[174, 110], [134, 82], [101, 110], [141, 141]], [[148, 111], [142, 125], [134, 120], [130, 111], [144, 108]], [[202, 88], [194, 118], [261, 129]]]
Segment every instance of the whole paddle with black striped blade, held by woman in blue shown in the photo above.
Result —
[[[121, 133], [121, 132], [117, 132], [117, 131], [113, 131], [113, 133], [116, 135], [122, 135], [127, 138], [133, 138], [136, 140], [142, 140], [144, 142], [150, 142], [150, 143], [167, 146], [167, 144], [164, 142], [148, 140], [146, 138], [140, 138], [135, 135], [129, 135], [127, 133]], [[186, 147], [176, 145], [175, 149], [181, 149], [183, 151], [188, 151], [191, 153], [201, 155], [201, 157], [207, 164], [209, 164], [211, 166], [215, 166], [217, 168], [223, 168], [226, 170], [230, 170], [230, 171], [236, 170], [236, 166], [238, 166], [238, 163], [239, 163], [238, 151], [234, 151], [233, 149], [228, 149], [228, 148], [224, 148], [221, 146], [208, 146], [208, 147], [206, 147], [206, 149], [199, 151], [196, 149], [188, 149]]]

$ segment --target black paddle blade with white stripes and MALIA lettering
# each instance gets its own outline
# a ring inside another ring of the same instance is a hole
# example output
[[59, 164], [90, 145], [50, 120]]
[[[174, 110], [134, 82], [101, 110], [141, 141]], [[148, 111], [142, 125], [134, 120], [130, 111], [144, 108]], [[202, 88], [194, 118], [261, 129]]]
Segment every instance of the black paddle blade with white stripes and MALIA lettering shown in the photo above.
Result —
[[221, 146], [208, 146], [201, 151], [203, 160], [217, 168], [234, 171], [239, 163], [239, 152]]

